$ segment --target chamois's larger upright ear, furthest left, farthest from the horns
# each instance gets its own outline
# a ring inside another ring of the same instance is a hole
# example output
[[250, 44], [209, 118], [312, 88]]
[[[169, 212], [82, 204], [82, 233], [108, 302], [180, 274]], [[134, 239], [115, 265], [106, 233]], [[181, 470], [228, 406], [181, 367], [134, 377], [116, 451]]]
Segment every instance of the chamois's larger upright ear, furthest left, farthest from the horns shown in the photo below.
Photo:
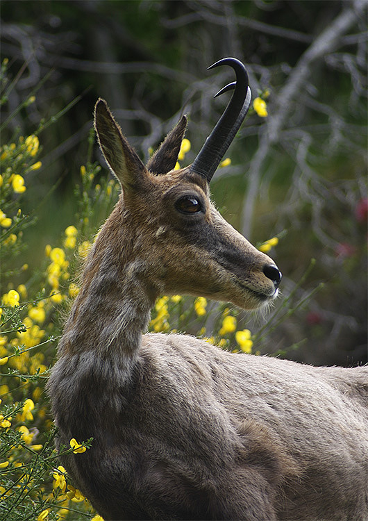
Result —
[[146, 167], [128, 143], [112, 117], [108, 104], [99, 98], [94, 108], [94, 128], [103, 156], [122, 187], [134, 188], [146, 172]]

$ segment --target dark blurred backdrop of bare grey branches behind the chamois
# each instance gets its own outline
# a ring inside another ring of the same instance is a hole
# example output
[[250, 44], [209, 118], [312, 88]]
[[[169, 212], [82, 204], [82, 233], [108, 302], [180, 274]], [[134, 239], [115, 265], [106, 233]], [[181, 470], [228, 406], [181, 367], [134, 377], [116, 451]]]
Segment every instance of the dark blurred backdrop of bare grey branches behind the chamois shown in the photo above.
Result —
[[1, 119], [13, 116], [1, 140], [58, 115], [39, 135], [42, 167], [26, 179], [22, 210], [37, 206], [39, 220], [27, 231], [31, 263], [73, 224], [97, 98], [142, 159], [186, 113], [185, 166], [230, 97], [213, 99], [231, 69], [206, 70], [225, 56], [246, 65], [268, 115], [249, 113], [213, 199], [253, 244], [279, 238], [269, 254], [284, 297], [296, 299], [264, 352], [301, 343], [288, 358], [367, 363], [367, 1], [3, 1], [12, 89]]

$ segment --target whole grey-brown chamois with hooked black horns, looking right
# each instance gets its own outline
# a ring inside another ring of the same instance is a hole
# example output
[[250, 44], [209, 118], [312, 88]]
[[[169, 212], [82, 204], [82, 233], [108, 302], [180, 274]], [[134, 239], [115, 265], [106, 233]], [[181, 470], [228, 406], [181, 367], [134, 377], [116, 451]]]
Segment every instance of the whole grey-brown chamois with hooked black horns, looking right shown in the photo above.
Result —
[[144, 166], [106, 101], [95, 129], [122, 194], [85, 261], [48, 383], [63, 464], [105, 520], [367, 520], [368, 367], [232, 354], [144, 334], [159, 295], [244, 309], [281, 273], [212, 205], [209, 182], [251, 103], [242, 63], [194, 163], [174, 169], [186, 118]]

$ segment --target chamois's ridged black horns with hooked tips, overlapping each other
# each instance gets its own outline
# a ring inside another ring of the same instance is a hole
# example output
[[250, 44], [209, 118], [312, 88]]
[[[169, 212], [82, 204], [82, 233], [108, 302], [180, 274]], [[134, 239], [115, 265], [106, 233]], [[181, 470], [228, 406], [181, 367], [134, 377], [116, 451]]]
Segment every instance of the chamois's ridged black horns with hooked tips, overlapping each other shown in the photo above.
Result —
[[206, 177], [208, 182], [212, 179], [215, 170], [219, 166], [219, 162], [235, 138], [235, 134], [239, 130], [251, 104], [251, 89], [248, 86], [248, 74], [246, 74], [246, 68], [242, 62], [236, 58], [223, 58], [208, 67], [208, 69], [219, 67], [219, 65], [230, 65], [230, 67], [233, 67], [236, 74], [236, 81], [222, 88], [215, 94], [215, 97], [233, 88], [235, 88], [235, 91], [224, 114], [220, 117], [215, 129], [212, 130], [206, 139], [206, 142], [203, 144], [198, 156], [196, 156], [190, 167], [192, 172]]

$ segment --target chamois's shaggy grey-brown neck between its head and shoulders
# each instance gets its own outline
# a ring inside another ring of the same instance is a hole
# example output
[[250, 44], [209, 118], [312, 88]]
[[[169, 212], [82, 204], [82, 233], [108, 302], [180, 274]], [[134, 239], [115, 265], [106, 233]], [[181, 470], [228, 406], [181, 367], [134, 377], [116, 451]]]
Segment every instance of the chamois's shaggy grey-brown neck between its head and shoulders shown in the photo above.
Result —
[[135, 358], [140, 349], [157, 292], [149, 284], [147, 266], [139, 258], [128, 260], [131, 241], [122, 244], [111, 222], [116, 223], [116, 215], [103, 226], [87, 258], [60, 354], [93, 351], [103, 360], [122, 361]]

